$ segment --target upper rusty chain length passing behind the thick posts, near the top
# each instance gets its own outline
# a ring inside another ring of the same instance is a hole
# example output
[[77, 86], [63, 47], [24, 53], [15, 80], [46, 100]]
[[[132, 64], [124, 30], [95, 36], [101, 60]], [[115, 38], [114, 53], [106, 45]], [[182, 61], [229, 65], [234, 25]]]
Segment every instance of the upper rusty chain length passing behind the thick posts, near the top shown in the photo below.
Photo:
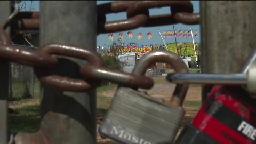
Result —
[[[149, 15], [149, 9], [169, 6], [170, 14]], [[127, 19], [106, 21], [106, 14], [126, 12]], [[190, 1], [116, 1], [97, 5], [98, 34], [113, 33], [139, 27], [154, 27], [183, 23], [196, 25], [199, 13], [193, 13]], [[38, 30], [39, 12], [20, 12], [11, 25], [16, 30]]]

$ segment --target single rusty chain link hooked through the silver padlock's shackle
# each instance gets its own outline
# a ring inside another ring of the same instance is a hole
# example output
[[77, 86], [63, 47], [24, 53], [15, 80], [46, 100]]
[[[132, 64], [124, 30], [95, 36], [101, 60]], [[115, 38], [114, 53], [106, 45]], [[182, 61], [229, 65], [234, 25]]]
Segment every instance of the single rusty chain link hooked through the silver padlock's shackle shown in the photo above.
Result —
[[146, 76], [135, 75], [124, 71], [95, 67], [95, 66], [82, 66], [81, 74], [85, 77], [91, 77], [93, 79], [101, 79], [102, 81], [114, 82], [119, 85], [151, 89], [154, 85], [153, 79]]

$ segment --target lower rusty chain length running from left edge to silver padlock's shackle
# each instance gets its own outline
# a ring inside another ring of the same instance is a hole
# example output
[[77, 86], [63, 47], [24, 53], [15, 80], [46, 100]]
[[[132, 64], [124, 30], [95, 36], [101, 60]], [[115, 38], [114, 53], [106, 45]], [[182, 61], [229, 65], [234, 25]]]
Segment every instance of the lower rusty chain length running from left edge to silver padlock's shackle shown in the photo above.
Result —
[[[85, 59], [92, 66], [86, 64], [81, 66], [81, 75], [85, 79], [51, 75], [50, 71], [53, 71], [59, 65], [58, 59], [51, 56], [52, 54]], [[42, 83], [65, 91], [83, 92], [91, 90], [99, 86], [102, 80], [144, 89], [150, 89], [154, 85], [153, 80], [149, 77], [106, 68], [101, 55], [88, 47], [49, 43], [39, 47], [36, 51], [29, 50], [25, 47], [11, 45], [11, 39], [3, 29], [0, 29], [0, 58], [33, 66], [36, 76]], [[1, 63], [3, 62], [2, 60]], [[89, 72], [87, 71], [88, 67], [91, 70]], [[105, 78], [102, 78], [103, 75], [100, 76], [95, 73], [99, 70], [108, 71], [104, 74]]]

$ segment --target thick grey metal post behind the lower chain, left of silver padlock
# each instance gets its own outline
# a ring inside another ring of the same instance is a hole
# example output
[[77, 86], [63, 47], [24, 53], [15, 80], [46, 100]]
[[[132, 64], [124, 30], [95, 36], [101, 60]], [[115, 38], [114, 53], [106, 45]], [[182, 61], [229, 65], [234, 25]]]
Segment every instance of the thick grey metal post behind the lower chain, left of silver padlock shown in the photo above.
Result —
[[[95, 49], [96, 11], [96, 1], [41, 1], [40, 45], [57, 42]], [[58, 60], [54, 74], [83, 79], [79, 66], [87, 61], [60, 55]], [[20, 136], [23, 143], [96, 143], [96, 91], [61, 91], [41, 83], [40, 128]]]

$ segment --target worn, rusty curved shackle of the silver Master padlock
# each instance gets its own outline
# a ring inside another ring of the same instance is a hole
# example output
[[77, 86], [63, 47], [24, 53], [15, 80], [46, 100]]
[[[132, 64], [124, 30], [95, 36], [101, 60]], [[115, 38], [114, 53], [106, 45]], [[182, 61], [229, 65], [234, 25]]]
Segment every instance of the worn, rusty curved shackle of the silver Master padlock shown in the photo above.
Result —
[[[146, 73], [147, 68], [154, 62], [169, 63], [176, 73], [188, 73], [188, 67], [177, 54], [164, 50], [150, 51], [144, 54], [138, 63], [136, 63], [132, 73], [143, 75]], [[177, 107], [181, 106], [187, 94], [187, 90], [188, 84], [177, 84], [170, 104]]]

